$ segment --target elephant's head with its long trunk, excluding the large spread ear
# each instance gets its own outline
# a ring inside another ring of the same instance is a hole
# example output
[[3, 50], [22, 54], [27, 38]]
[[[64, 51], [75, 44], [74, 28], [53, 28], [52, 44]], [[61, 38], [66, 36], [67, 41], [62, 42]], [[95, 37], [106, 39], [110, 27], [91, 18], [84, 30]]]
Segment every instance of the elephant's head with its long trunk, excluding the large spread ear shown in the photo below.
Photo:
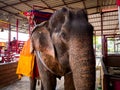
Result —
[[58, 60], [65, 69], [70, 67], [76, 90], [94, 90], [93, 27], [83, 9], [63, 8], [60, 11], [64, 16], [60, 17], [60, 20], [64, 23], [61, 24], [61, 21], [55, 19], [59, 18], [57, 12], [49, 21]]

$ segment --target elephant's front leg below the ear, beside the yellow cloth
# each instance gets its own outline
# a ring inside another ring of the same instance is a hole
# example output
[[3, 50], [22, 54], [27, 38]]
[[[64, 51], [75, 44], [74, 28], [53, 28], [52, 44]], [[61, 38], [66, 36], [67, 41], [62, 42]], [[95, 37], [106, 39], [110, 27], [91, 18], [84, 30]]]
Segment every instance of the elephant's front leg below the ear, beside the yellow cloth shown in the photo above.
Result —
[[38, 66], [39, 75], [41, 77], [41, 82], [43, 85], [43, 90], [55, 90], [56, 88], [56, 76], [51, 72], [45, 69], [43, 64], [40, 62], [38, 58], [38, 54], [36, 54], [36, 61]]

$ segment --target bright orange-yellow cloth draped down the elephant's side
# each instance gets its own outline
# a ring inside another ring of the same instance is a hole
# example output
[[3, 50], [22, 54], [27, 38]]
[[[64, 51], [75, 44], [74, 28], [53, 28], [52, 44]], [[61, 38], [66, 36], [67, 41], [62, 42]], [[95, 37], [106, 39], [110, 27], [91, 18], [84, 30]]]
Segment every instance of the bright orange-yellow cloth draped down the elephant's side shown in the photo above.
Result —
[[33, 74], [34, 67], [34, 54], [30, 53], [30, 39], [25, 42], [23, 49], [20, 53], [20, 58], [18, 61], [17, 71], [18, 78], [20, 79], [22, 75], [31, 77]]

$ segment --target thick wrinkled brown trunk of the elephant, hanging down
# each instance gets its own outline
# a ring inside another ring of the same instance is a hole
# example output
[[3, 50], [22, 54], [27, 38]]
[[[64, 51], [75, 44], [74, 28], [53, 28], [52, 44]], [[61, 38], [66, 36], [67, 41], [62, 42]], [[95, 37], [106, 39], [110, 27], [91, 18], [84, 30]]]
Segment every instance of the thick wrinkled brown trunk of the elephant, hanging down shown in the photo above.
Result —
[[92, 35], [73, 35], [69, 44], [69, 63], [75, 90], [95, 90], [95, 57]]

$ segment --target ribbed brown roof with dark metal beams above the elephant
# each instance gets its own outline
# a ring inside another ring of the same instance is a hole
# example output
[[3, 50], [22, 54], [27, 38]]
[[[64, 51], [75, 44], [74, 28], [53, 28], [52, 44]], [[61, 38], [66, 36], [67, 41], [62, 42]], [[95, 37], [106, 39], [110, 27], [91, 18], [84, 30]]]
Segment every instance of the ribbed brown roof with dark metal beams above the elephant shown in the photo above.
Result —
[[103, 34], [119, 33], [116, 0], [0, 0], [0, 20], [10, 22], [12, 30], [16, 30], [18, 19], [19, 32], [27, 33], [28, 21], [21, 12], [37, 9], [53, 13], [62, 7], [85, 9], [96, 35], [101, 35], [101, 29]]

